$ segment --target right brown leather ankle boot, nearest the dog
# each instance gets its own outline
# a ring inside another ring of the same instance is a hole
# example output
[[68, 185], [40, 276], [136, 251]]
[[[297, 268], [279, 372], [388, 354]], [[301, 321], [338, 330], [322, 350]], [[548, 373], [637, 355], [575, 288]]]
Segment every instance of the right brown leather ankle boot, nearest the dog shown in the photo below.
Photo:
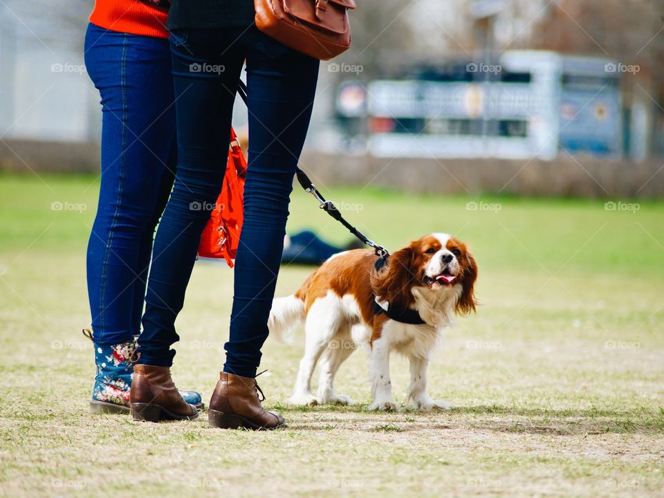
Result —
[[284, 417], [265, 411], [261, 405], [264, 399], [256, 379], [221, 372], [210, 399], [208, 421], [221, 429], [272, 430], [284, 426]]

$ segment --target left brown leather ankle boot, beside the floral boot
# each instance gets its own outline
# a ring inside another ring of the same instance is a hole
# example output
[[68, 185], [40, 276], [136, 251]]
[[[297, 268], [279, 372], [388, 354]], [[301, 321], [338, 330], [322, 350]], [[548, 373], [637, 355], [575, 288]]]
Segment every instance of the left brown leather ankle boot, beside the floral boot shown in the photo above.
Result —
[[199, 410], [183, 400], [168, 367], [134, 365], [129, 401], [137, 421], [193, 420], [199, 416]]

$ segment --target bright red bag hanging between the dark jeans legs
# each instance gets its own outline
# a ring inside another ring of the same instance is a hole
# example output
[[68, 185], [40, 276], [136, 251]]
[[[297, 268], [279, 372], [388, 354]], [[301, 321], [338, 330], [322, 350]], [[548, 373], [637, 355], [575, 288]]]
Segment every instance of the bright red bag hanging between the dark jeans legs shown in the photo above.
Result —
[[237, 245], [242, 230], [242, 198], [247, 161], [242, 154], [235, 130], [230, 129], [230, 150], [228, 163], [221, 184], [221, 193], [210, 213], [199, 243], [199, 256], [222, 258], [230, 268], [237, 253]]

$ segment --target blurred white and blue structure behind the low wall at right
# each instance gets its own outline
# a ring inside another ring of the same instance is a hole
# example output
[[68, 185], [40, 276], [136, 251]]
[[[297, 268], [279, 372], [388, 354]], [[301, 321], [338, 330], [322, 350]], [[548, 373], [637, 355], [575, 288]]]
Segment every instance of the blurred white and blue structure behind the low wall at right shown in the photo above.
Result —
[[618, 157], [623, 119], [616, 68], [609, 59], [513, 50], [495, 62], [344, 82], [335, 108], [347, 140], [365, 138], [376, 156]]

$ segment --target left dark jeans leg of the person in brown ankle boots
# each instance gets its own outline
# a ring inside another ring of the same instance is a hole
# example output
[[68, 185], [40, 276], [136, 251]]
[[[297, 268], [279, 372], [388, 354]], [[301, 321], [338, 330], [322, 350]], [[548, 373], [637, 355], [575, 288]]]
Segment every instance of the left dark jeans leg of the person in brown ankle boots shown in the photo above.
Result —
[[172, 36], [178, 168], [154, 242], [139, 338], [143, 365], [172, 365], [175, 351], [170, 347], [179, 339], [175, 319], [183, 306], [201, 232], [221, 190], [244, 59], [239, 46], [224, 50], [224, 38], [224, 32], [217, 30]]

